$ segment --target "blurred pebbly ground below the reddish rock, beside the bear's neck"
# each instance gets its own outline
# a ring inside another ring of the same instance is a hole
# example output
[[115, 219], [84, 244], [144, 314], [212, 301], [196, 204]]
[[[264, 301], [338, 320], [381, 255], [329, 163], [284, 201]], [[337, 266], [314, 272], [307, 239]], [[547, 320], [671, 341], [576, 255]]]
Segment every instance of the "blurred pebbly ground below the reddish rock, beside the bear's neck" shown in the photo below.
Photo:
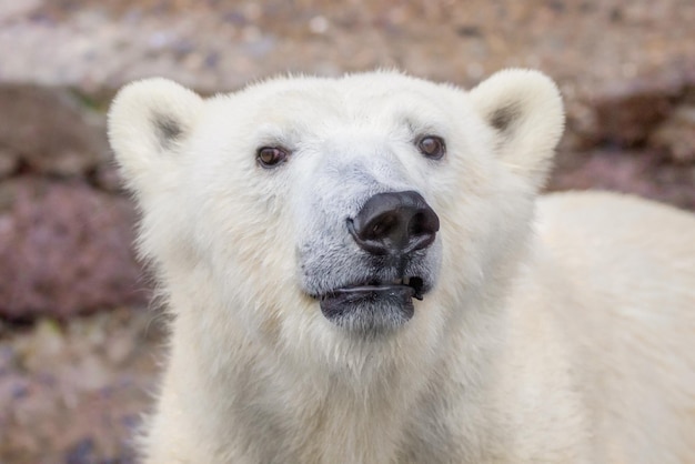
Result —
[[129, 463], [162, 355], [153, 312], [0, 322], [0, 463]]

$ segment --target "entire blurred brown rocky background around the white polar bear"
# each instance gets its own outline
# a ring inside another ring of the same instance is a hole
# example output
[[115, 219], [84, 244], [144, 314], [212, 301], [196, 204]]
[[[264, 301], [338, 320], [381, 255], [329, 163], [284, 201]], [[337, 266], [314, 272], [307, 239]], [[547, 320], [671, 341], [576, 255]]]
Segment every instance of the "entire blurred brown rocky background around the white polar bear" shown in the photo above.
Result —
[[567, 105], [550, 189], [693, 210], [693, 0], [0, 0], [0, 463], [133, 460], [162, 331], [104, 134], [123, 83], [536, 68]]

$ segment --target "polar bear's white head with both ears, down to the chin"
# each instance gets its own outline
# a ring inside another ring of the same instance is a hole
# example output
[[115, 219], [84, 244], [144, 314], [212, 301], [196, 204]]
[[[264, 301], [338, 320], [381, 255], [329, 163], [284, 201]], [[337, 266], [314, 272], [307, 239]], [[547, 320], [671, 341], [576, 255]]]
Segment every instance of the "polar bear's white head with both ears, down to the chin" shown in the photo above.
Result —
[[179, 306], [328, 351], [425, 343], [483, 311], [524, 251], [562, 125], [555, 85], [511, 70], [471, 92], [394, 72], [210, 99], [145, 80], [109, 132], [140, 250]]

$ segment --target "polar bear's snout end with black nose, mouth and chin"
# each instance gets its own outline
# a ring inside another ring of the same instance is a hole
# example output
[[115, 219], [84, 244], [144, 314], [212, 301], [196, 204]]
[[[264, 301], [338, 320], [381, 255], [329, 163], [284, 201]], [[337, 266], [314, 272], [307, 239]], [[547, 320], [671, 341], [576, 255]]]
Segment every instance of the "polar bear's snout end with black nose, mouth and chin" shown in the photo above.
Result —
[[433, 288], [440, 218], [420, 193], [390, 191], [367, 196], [345, 226], [348, 248], [331, 255], [309, 249], [305, 283], [335, 325], [360, 336], [390, 333]]

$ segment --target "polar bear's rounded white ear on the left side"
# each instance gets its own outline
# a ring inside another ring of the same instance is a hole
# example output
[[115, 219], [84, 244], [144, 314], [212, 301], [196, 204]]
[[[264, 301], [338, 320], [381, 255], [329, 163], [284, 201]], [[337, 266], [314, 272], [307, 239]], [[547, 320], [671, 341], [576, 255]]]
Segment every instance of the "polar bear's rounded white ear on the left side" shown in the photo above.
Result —
[[200, 95], [161, 78], [135, 81], [115, 95], [109, 110], [109, 140], [131, 188], [142, 192], [153, 188], [157, 178], [172, 173], [202, 107]]

